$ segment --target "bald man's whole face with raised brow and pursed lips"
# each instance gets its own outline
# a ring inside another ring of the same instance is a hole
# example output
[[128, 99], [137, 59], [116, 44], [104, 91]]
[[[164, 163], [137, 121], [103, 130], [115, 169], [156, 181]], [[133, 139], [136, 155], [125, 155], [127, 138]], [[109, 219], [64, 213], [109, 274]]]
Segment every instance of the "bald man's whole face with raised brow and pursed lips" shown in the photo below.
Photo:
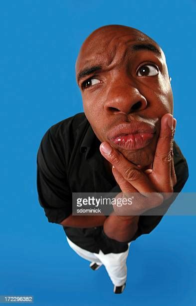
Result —
[[83, 43], [76, 78], [85, 115], [98, 139], [135, 164], [151, 164], [161, 117], [173, 114], [168, 69], [159, 45], [136, 29], [104, 26]]

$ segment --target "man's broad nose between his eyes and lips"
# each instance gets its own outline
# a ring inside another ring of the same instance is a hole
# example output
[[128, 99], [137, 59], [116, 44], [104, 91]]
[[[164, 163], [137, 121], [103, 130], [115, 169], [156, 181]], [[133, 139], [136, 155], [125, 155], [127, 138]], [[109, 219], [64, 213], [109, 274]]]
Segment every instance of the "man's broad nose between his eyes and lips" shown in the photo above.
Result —
[[130, 80], [112, 82], [104, 104], [107, 113], [129, 114], [147, 107], [146, 98]]

